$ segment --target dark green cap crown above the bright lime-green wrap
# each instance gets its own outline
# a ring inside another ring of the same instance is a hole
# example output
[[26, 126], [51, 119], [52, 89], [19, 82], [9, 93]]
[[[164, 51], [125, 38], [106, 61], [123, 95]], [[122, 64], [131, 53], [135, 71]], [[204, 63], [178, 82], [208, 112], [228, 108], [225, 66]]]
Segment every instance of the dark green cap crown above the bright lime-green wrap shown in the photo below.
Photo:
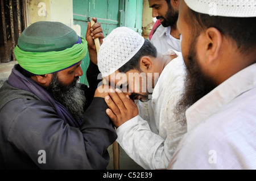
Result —
[[51, 52], [72, 47], [79, 39], [76, 32], [60, 22], [36, 22], [19, 37], [18, 46], [26, 52]]

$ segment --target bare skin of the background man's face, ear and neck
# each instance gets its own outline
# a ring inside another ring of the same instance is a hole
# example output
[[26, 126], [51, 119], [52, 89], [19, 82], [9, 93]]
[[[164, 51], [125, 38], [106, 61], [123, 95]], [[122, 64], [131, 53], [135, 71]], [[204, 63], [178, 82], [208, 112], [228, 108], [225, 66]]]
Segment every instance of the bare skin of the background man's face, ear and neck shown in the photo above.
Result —
[[[171, 6], [175, 11], [179, 11], [179, 0], [170, 0]], [[168, 4], [166, 0], [148, 0], [150, 8], [152, 8], [152, 17], [163, 16], [166, 18], [166, 13], [168, 10]], [[161, 19], [160, 22], [163, 20]], [[171, 36], [176, 39], [180, 39], [180, 33], [177, 31], [176, 26], [171, 26]]]

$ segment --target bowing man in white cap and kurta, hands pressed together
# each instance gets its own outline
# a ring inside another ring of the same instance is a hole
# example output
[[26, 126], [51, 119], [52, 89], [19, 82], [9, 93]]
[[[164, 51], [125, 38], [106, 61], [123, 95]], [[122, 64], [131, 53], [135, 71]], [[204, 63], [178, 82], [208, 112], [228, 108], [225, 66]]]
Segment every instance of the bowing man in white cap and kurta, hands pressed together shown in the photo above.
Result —
[[174, 117], [184, 88], [181, 53], [170, 51], [163, 56], [137, 32], [119, 27], [101, 45], [98, 68], [119, 89], [105, 99], [113, 111], [106, 110], [117, 127], [118, 143], [144, 169], [166, 169], [187, 131], [185, 120]]

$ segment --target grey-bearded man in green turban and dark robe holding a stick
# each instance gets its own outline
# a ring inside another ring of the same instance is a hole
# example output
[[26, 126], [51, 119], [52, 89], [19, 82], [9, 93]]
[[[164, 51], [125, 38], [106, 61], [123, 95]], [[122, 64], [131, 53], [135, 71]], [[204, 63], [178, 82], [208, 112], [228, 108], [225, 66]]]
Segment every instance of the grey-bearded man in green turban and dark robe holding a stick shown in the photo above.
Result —
[[[97, 22], [97, 19], [94, 19]], [[105, 169], [117, 135], [90, 62], [89, 87], [77, 83], [93, 38], [59, 22], [36, 22], [23, 31], [16, 64], [0, 89], [0, 169]], [[92, 36], [93, 35], [93, 36]], [[92, 53], [90, 53], [92, 56]], [[94, 95], [95, 92], [95, 95]]]

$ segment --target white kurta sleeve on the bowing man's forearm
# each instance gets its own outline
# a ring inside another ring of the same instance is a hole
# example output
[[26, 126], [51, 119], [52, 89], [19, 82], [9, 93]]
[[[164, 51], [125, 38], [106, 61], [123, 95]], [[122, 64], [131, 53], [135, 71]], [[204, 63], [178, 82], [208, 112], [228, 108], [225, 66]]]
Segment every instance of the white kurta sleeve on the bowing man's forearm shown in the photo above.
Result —
[[140, 116], [117, 129], [117, 142], [144, 169], [166, 169], [170, 155], [164, 153], [164, 139], [151, 132], [147, 121]]

